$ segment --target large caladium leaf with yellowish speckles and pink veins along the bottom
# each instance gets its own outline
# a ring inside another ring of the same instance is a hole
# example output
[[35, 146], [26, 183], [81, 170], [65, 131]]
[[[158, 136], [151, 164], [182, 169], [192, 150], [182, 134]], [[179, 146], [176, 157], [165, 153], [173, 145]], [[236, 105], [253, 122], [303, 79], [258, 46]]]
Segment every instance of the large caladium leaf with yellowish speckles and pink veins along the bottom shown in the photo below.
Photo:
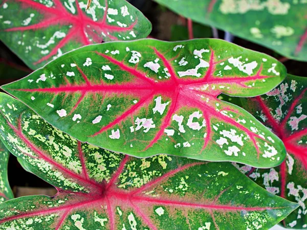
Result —
[[80, 143], [23, 103], [0, 96], [0, 137], [58, 189], [0, 205], [0, 229], [268, 229], [298, 204], [230, 163], [147, 159]]

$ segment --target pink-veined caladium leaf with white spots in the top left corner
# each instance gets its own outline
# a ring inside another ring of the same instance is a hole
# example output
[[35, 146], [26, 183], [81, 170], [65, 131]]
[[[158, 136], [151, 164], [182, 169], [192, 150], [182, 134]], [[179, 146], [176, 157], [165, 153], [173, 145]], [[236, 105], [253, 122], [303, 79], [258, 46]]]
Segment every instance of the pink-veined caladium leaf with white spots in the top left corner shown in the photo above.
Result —
[[125, 0], [5, 0], [0, 39], [33, 70], [83, 45], [144, 38], [145, 16]]

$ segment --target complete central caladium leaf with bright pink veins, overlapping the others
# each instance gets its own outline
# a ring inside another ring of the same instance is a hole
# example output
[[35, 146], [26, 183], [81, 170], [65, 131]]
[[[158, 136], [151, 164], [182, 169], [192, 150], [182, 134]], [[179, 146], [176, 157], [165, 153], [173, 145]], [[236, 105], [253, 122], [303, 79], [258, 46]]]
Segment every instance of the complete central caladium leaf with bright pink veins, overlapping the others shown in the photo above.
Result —
[[81, 48], [2, 88], [105, 149], [274, 167], [286, 157], [282, 142], [216, 97], [264, 94], [285, 75], [275, 59], [223, 40], [144, 39]]

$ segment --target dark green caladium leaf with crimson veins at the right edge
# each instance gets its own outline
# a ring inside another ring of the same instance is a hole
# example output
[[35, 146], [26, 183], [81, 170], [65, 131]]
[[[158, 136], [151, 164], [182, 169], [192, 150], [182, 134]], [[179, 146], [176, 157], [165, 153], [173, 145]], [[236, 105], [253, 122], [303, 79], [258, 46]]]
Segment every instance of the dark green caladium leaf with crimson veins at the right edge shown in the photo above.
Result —
[[307, 78], [288, 75], [268, 94], [243, 100], [244, 107], [283, 141], [287, 158], [277, 168], [242, 169], [273, 194], [300, 207], [282, 221], [286, 227], [307, 227]]

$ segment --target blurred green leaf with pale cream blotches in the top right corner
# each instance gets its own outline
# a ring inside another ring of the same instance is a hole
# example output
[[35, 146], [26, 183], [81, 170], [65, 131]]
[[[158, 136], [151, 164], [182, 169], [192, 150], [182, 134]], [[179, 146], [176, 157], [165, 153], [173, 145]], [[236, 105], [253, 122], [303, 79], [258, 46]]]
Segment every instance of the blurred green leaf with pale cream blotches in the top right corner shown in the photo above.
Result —
[[288, 58], [307, 61], [306, 1], [155, 1], [199, 23], [264, 45]]

